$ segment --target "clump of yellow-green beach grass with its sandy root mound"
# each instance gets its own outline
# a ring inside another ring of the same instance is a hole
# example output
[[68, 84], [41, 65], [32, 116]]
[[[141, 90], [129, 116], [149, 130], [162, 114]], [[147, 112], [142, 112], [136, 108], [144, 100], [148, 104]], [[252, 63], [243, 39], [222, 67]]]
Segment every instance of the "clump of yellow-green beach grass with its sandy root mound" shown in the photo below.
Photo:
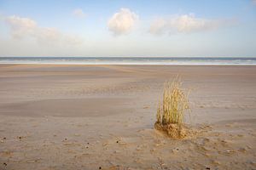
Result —
[[174, 139], [185, 136], [184, 111], [189, 109], [188, 93], [183, 89], [180, 77], [166, 82], [163, 99], [157, 109], [154, 127], [166, 132]]

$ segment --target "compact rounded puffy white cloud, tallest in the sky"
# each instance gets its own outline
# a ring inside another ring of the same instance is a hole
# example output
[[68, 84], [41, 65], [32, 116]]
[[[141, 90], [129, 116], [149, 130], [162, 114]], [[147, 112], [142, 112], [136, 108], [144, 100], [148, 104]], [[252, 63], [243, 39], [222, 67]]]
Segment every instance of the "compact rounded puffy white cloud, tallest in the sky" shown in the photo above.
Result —
[[108, 20], [108, 30], [114, 35], [129, 33], [135, 26], [138, 20], [138, 15], [132, 12], [129, 8], [120, 8], [118, 13]]

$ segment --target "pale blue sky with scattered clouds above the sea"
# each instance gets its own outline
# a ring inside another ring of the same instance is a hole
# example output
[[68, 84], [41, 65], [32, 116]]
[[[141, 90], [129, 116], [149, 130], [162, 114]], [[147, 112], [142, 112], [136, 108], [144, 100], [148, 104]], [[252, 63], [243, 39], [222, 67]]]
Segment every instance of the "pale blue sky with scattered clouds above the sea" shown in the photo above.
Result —
[[256, 0], [0, 0], [0, 57], [256, 57]]

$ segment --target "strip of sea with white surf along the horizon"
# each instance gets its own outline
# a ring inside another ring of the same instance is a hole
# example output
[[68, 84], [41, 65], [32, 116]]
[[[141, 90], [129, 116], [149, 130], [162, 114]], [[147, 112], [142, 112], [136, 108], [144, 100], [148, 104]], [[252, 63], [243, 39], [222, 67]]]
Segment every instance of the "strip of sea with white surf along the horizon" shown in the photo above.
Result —
[[220, 57], [0, 57], [0, 64], [256, 65], [256, 58]]

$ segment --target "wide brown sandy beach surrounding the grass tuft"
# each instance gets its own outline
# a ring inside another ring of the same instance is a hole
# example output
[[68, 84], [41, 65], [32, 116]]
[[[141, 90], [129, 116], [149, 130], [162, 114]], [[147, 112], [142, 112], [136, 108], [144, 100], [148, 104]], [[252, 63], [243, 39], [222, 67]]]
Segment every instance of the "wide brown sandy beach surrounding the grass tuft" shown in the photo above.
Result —
[[[191, 89], [183, 140], [154, 130]], [[0, 169], [256, 169], [256, 66], [0, 65]]]

